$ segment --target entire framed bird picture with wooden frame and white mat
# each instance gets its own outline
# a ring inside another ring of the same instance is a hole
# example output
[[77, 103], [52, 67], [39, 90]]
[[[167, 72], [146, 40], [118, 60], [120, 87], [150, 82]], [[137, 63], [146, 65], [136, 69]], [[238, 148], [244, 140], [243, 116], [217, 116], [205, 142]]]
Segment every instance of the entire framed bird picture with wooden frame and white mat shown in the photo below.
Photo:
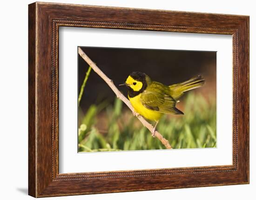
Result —
[[29, 195], [249, 183], [249, 16], [28, 8]]

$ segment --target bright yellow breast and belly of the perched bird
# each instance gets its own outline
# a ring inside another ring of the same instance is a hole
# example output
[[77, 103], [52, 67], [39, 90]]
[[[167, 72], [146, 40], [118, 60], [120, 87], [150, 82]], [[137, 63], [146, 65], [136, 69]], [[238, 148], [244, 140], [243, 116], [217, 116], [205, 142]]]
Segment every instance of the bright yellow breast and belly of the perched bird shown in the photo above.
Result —
[[149, 119], [149, 120], [152, 120], [152, 121], [158, 121], [161, 116], [163, 115], [162, 113], [160, 112], [157, 112], [157, 111], [154, 111], [154, 110], [149, 110], [147, 109], [145, 106], [142, 105], [141, 103], [141, 94], [135, 96], [135, 97], [132, 97], [130, 98], [128, 96], [132, 106], [134, 107], [134, 110], [139, 113], [141, 116]]

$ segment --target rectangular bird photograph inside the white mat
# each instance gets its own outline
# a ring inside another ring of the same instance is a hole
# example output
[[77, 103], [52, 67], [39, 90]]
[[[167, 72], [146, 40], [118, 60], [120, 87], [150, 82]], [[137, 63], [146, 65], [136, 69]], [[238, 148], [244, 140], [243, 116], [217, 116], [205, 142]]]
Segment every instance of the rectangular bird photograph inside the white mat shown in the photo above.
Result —
[[216, 52], [80, 48], [134, 111], [78, 54], [79, 153], [217, 147]]

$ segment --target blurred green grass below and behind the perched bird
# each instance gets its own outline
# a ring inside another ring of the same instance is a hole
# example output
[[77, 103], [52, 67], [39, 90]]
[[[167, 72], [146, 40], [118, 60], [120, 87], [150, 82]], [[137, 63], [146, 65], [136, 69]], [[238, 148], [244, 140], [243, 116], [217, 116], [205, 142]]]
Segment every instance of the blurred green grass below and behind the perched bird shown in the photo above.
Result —
[[[157, 130], [172, 148], [216, 147], [216, 98], [190, 91], [182, 102], [185, 114], [164, 115]], [[92, 104], [85, 114], [81, 110], [79, 114], [79, 152], [165, 149], [117, 98], [114, 104]], [[105, 130], [98, 126], [102, 118]]]

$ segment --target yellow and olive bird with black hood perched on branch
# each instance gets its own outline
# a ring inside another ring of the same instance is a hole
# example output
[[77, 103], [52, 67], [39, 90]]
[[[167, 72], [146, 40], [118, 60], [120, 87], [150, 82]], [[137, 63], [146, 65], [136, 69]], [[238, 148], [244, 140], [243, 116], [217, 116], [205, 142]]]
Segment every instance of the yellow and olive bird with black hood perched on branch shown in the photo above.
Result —
[[184, 115], [176, 108], [176, 103], [184, 92], [202, 87], [205, 79], [195, 76], [181, 83], [165, 85], [140, 71], [133, 71], [127, 77], [125, 83], [120, 84], [128, 87], [128, 99], [132, 104], [136, 116], [143, 116], [155, 122], [152, 136], [155, 137], [156, 126], [164, 114]]

